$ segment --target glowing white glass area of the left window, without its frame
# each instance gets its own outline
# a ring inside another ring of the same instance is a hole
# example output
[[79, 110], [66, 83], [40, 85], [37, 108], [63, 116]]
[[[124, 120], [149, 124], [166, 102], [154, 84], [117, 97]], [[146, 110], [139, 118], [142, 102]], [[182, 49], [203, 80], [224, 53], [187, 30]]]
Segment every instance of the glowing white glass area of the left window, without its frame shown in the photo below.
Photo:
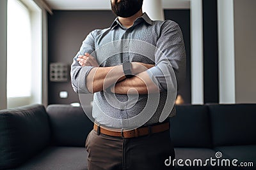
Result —
[[31, 25], [29, 10], [8, 1], [7, 97], [31, 96]]

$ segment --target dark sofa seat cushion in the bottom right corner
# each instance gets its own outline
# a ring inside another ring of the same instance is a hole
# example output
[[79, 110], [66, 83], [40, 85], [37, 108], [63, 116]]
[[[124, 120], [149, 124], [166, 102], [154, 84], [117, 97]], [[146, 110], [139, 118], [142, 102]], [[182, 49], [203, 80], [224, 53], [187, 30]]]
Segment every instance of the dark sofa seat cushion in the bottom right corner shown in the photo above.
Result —
[[237, 159], [239, 162], [253, 162], [252, 166], [247, 166], [243, 169], [256, 169], [256, 145], [241, 145], [241, 146], [219, 146], [214, 148], [216, 152], [221, 152], [225, 157]]

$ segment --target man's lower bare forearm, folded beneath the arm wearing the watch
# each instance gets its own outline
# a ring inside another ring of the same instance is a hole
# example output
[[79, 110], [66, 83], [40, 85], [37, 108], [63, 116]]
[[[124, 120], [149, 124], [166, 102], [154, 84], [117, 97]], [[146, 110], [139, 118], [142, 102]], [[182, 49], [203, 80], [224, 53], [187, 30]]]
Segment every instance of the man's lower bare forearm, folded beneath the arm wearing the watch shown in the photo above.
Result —
[[112, 89], [115, 94], [152, 94], [159, 92], [157, 85], [150, 79], [146, 72], [142, 72], [116, 83]]

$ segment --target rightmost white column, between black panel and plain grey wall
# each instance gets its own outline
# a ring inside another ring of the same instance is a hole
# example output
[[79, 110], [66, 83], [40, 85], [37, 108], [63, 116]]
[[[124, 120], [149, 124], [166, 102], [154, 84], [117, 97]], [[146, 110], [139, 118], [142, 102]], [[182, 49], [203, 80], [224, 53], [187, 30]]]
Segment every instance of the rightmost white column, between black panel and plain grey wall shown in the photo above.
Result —
[[220, 103], [236, 103], [234, 0], [218, 0]]

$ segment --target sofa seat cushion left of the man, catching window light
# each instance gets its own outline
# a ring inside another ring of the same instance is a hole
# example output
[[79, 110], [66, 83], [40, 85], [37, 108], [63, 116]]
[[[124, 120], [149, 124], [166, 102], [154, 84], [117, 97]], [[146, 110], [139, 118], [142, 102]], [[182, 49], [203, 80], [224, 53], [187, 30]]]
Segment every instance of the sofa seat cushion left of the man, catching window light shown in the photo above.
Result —
[[17, 170], [82, 170], [87, 169], [86, 149], [83, 147], [51, 146], [25, 162]]

